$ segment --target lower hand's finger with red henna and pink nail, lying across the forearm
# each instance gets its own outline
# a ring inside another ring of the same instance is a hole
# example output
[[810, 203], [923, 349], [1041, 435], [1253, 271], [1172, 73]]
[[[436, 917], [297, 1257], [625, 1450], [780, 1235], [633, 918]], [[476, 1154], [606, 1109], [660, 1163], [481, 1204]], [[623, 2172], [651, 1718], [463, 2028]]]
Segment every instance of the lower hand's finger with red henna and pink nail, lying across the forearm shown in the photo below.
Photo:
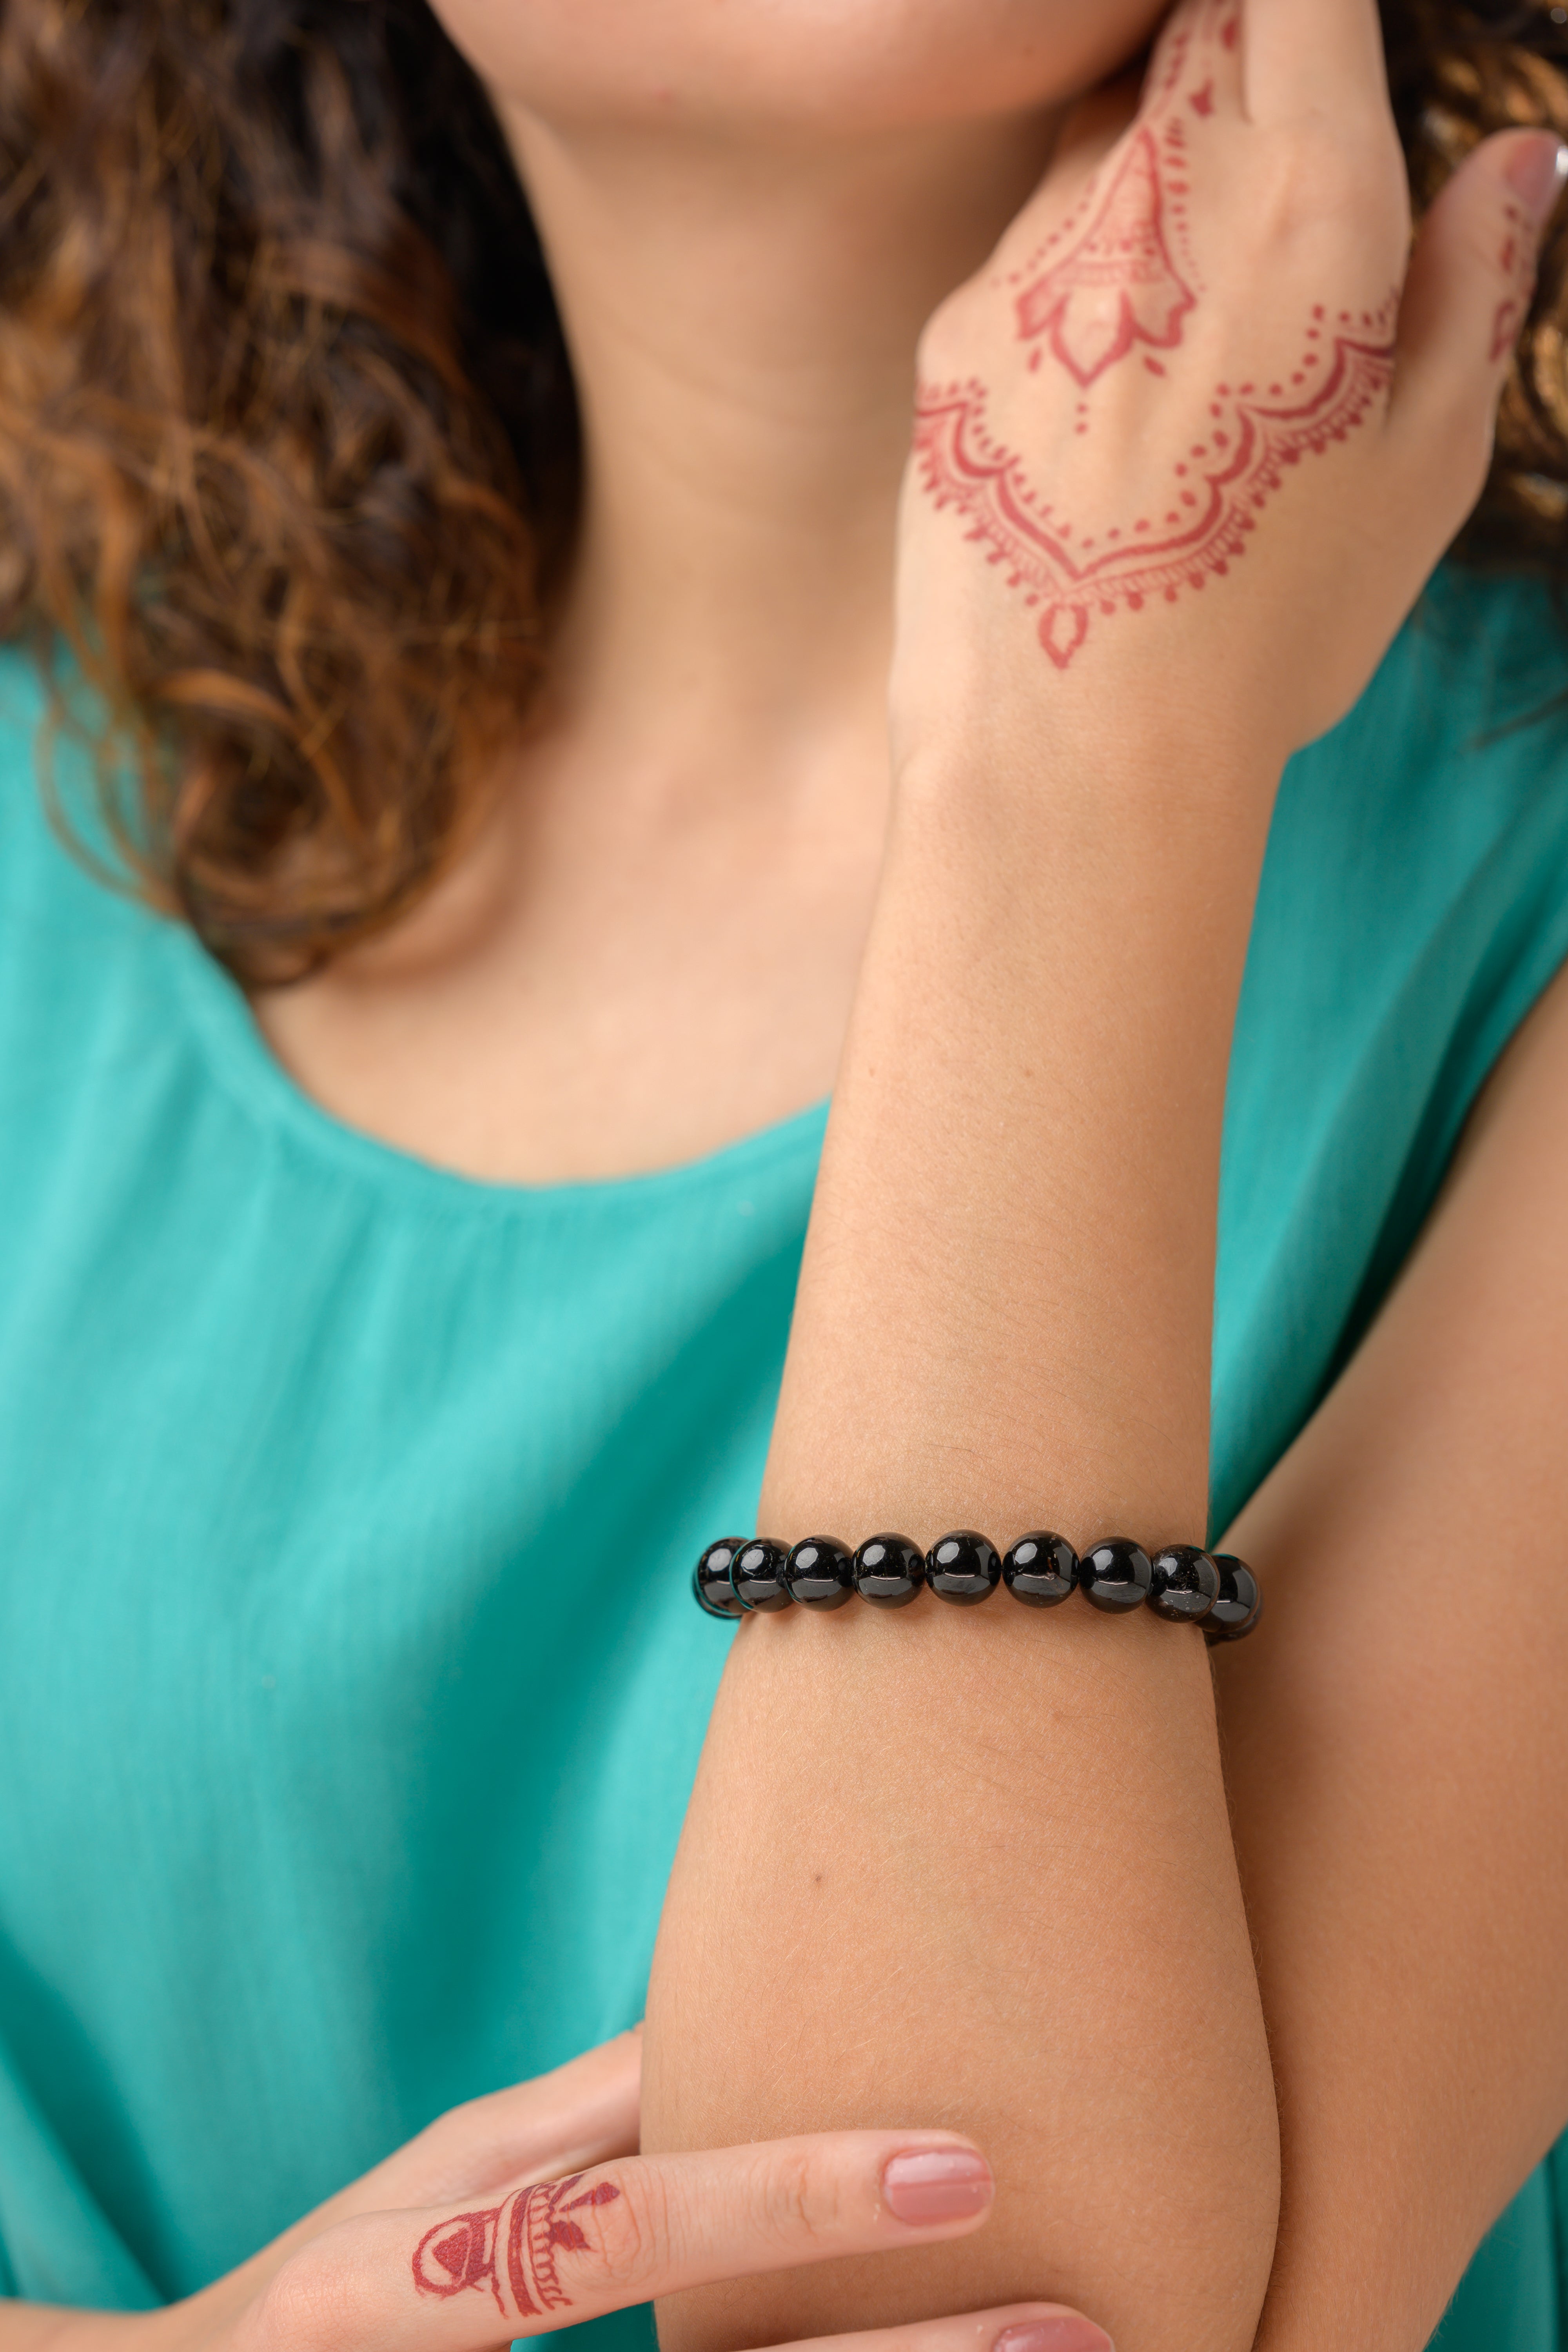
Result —
[[985, 2157], [950, 2133], [842, 2131], [632, 2157], [494, 2204], [376, 2213], [273, 2279], [263, 2352], [487, 2352], [654, 2296], [976, 2230]]

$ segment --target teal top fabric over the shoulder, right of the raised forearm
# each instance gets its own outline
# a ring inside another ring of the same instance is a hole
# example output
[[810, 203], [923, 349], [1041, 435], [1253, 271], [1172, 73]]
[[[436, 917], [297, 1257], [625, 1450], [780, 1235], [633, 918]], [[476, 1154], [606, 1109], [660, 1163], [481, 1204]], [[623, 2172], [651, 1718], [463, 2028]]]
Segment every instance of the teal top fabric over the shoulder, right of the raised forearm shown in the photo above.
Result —
[[1568, 957], [1568, 630], [1441, 572], [1286, 769], [1237, 1011], [1215, 1294], [1229, 1517], [1356, 1345]]

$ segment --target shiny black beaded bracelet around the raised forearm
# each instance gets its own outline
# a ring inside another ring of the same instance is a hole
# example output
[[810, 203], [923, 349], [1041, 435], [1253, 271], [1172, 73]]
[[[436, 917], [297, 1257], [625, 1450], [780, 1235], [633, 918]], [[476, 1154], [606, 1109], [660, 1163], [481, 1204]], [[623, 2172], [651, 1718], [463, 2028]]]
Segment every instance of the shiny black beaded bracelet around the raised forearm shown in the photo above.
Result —
[[719, 1618], [842, 1609], [856, 1595], [872, 1609], [903, 1609], [926, 1588], [973, 1609], [997, 1585], [1027, 1609], [1056, 1609], [1072, 1592], [1107, 1616], [1147, 1606], [1168, 1625], [1201, 1625], [1206, 1642], [1239, 1642], [1262, 1616], [1258, 1578], [1234, 1552], [1168, 1543], [1150, 1557], [1131, 1536], [1100, 1536], [1079, 1559], [1065, 1536], [1041, 1529], [1004, 1555], [969, 1526], [929, 1552], [907, 1536], [867, 1536], [858, 1552], [835, 1536], [806, 1536], [792, 1550], [766, 1536], [722, 1536], [691, 1576], [701, 1606]]

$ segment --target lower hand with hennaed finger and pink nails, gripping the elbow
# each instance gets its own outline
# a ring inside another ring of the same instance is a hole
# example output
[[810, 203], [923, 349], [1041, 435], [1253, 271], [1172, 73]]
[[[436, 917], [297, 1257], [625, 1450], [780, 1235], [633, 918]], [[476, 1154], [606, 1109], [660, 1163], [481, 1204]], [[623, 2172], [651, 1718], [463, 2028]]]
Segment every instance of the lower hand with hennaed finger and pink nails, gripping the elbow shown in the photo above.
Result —
[[[642, 2159], [637, 2096], [639, 2037], [621, 2034], [454, 2107], [237, 2272], [125, 2326], [160, 2340], [148, 2352], [491, 2352], [684, 2286], [966, 2237], [990, 2211], [990, 2169], [954, 2133]], [[832, 2352], [990, 2352], [1001, 2336], [1001, 2352], [1110, 2352], [1058, 2303]]]

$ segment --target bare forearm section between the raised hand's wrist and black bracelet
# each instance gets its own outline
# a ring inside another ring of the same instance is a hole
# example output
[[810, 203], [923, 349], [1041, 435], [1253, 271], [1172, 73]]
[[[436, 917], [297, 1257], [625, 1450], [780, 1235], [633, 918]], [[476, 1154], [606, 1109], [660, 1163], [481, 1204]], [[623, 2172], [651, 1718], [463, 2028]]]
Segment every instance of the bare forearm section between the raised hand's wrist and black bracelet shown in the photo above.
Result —
[[954, 727], [919, 757], [893, 821], [769, 1456], [780, 1531], [1048, 1510], [1204, 1536], [1225, 1068], [1274, 779], [1197, 724], [1046, 731], [1023, 682], [1013, 710], [1023, 739]]

